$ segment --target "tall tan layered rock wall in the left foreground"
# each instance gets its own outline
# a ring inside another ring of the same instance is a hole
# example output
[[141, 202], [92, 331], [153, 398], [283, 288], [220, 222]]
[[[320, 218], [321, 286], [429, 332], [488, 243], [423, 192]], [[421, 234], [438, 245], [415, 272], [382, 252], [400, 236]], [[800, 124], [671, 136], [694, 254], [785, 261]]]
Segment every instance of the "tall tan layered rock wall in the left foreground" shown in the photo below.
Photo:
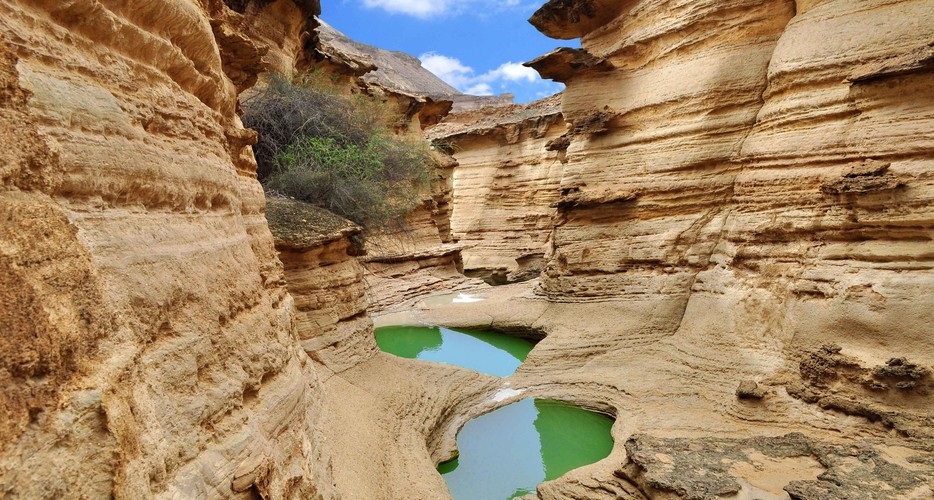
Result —
[[[275, 2], [281, 4], [283, 2]], [[223, 2], [0, 2], [0, 489], [331, 496]]]

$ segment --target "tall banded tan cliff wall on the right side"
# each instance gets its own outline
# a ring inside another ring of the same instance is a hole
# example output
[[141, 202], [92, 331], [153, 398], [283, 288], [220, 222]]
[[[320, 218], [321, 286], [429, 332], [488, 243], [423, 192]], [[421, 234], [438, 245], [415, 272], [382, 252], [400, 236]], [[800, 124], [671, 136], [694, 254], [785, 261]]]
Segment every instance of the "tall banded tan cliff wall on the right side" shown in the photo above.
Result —
[[929, 2], [578, 3], [532, 18], [582, 45], [532, 63], [571, 129], [542, 293], [932, 356]]

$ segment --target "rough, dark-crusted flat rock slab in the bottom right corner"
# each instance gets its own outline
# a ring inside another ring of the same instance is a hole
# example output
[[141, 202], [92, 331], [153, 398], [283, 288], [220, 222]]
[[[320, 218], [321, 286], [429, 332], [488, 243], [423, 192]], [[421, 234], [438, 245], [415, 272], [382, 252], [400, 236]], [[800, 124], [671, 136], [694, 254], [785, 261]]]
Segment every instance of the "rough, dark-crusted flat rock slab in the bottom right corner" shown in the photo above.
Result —
[[[635, 435], [626, 441], [626, 452], [629, 463], [616, 474], [639, 484], [649, 498], [775, 495], [780, 488], [792, 498], [871, 499], [880, 492], [923, 498], [931, 493], [926, 472], [887, 460], [884, 447], [832, 445], [802, 434], [745, 439]], [[737, 480], [743, 475], [750, 479]], [[784, 484], [787, 477], [800, 479]]]

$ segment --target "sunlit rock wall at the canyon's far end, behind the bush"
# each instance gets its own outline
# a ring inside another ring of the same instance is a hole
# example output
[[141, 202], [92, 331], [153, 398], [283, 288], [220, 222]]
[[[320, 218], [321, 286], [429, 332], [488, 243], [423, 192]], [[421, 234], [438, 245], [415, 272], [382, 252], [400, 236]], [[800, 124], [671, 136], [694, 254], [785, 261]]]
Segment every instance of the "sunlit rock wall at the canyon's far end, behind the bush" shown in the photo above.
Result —
[[451, 236], [464, 272], [490, 283], [538, 276], [564, 167], [560, 97], [454, 113], [428, 136], [457, 159]]

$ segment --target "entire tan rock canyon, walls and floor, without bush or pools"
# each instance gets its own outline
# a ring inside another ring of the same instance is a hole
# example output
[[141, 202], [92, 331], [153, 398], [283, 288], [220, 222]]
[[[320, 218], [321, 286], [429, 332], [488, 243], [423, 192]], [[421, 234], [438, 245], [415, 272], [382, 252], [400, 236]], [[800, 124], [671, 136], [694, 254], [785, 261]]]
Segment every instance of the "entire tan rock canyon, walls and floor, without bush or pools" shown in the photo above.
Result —
[[[4, 496], [446, 498], [525, 397], [615, 418], [528, 498], [934, 495], [934, 3], [550, 0], [525, 105], [318, 14], [0, 0]], [[240, 111], [309, 68], [436, 145], [404, 234], [265, 199]], [[374, 324], [541, 341], [500, 379]]]

